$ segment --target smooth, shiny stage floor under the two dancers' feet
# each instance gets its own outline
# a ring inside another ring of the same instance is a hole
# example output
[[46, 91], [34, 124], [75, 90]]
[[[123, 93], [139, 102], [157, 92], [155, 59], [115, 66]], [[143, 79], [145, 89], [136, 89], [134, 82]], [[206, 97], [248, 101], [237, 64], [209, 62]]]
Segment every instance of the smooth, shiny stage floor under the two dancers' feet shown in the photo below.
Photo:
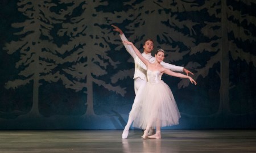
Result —
[[0, 152], [256, 152], [256, 130], [162, 130], [162, 139], [141, 139], [142, 130], [2, 130]]

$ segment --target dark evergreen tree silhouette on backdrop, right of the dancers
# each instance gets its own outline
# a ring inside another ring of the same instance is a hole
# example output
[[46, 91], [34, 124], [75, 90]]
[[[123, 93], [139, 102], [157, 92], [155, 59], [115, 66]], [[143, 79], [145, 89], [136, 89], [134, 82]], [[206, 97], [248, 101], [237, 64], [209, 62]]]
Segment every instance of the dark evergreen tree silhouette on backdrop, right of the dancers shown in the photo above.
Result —
[[[255, 43], [254, 31], [246, 25], [242, 25], [243, 22], [247, 24], [252, 24], [254, 27], [256, 25], [255, 16], [249, 12], [242, 12], [242, 10], [235, 9], [237, 3], [235, 1], [205, 1], [203, 5], [200, 6], [199, 10], [207, 8], [209, 16], [214, 16], [217, 19], [213, 22], [205, 22], [201, 32], [208, 39], [207, 42], [200, 42], [197, 46], [191, 48], [191, 54], [198, 54], [204, 52], [212, 52], [213, 56], [209, 58], [206, 65], [198, 67], [195, 78], [199, 76], [208, 75], [209, 70], [216, 64], [220, 64], [220, 71], [218, 75], [220, 76], [220, 105], [218, 107], [218, 114], [233, 114], [230, 111], [230, 101], [229, 101], [229, 90], [232, 86], [236, 86], [230, 82], [230, 70], [229, 62], [230, 58], [241, 59], [246, 61], [248, 64], [253, 63], [256, 66], [255, 55], [253, 53], [243, 50], [240, 43]], [[237, 1], [243, 8], [249, 8], [253, 1]], [[239, 5], [238, 5], [239, 6]], [[255, 6], [255, 5], [254, 5]], [[252, 8], [250, 8], [252, 9]], [[249, 10], [250, 10], [249, 9]], [[230, 36], [233, 35], [233, 38]], [[239, 40], [239, 41], [236, 41]], [[180, 86], [187, 86], [187, 84], [179, 84]]]

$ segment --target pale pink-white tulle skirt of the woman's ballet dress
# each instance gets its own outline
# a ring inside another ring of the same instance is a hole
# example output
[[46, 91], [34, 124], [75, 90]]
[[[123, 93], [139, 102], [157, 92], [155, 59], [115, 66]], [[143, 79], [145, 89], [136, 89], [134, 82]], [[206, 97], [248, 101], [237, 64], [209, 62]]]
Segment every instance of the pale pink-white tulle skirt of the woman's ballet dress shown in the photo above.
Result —
[[147, 126], [160, 127], [179, 124], [180, 112], [177, 108], [170, 87], [160, 80], [158, 83], [147, 82], [135, 97], [130, 116], [133, 126], [146, 129]]

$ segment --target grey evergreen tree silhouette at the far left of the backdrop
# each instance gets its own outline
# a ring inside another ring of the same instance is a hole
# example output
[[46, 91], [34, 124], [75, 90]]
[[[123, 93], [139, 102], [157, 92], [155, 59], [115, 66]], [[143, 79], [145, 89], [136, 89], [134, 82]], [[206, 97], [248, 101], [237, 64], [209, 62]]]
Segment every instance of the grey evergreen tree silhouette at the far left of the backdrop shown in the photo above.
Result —
[[33, 83], [33, 101], [31, 111], [28, 116], [39, 116], [39, 87], [40, 80], [56, 82], [59, 80], [58, 73], [52, 73], [52, 69], [57, 66], [54, 62], [56, 54], [54, 48], [57, 46], [52, 42], [50, 34], [53, 25], [58, 23], [55, 12], [49, 9], [55, 6], [51, 1], [28, 1], [22, 0], [17, 3], [18, 10], [26, 17], [21, 23], [13, 23], [13, 28], [20, 29], [14, 33], [18, 37], [17, 41], [7, 43], [4, 50], [8, 54], [18, 54], [19, 61], [16, 62], [16, 69], [19, 70], [15, 80], [9, 80], [5, 88], [19, 88], [28, 83]]

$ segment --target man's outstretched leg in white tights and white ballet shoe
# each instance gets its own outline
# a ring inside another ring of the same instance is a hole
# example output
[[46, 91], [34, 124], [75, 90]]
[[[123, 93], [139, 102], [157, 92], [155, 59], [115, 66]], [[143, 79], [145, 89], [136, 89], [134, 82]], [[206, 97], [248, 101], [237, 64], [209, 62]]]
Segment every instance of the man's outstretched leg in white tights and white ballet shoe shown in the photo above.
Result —
[[[134, 111], [134, 109], [136, 109], [138, 107], [139, 103], [141, 102], [141, 100], [140, 100], [141, 99], [141, 92], [142, 92], [143, 87], [145, 86], [145, 84], [146, 84], [146, 80], [142, 80], [141, 78], [135, 78], [134, 79], [134, 91], [135, 91], [136, 97], [134, 99], [133, 107], [131, 108], [130, 112]], [[131, 114], [133, 114], [133, 115], [131, 115]], [[122, 134], [123, 139], [127, 138], [128, 134], [129, 134], [130, 126], [134, 121], [134, 117], [135, 117], [134, 113], [129, 114], [127, 124], [126, 124], [125, 129], [123, 130], [123, 134]]]

